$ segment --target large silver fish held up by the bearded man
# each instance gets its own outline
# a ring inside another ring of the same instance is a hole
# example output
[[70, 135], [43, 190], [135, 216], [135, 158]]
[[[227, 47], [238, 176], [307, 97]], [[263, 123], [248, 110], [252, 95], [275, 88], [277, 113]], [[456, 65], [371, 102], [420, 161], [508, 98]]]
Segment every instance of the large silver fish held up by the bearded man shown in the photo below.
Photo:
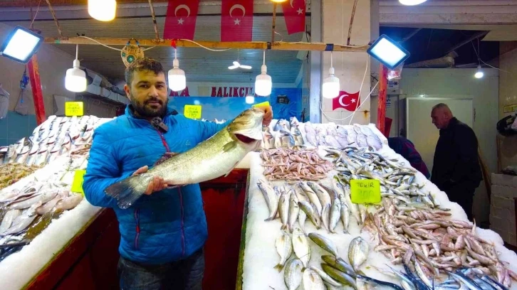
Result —
[[184, 186], [224, 176], [260, 145], [263, 115], [261, 109], [246, 109], [228, 126], [193, 149], [169, 157], [146, 173], [108, 186], [105, 193], [116, 198], [118, 206], [125, 209], [145, 193], [155, 176], [163, 178], [169, 186]]

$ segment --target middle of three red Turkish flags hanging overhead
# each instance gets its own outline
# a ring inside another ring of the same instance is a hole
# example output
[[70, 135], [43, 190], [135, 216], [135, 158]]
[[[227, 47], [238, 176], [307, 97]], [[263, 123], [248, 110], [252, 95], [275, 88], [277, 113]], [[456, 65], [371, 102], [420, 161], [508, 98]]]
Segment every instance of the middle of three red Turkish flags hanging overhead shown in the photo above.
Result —
[[221, 41], [251, 41], [253, 0], [223, 0]]

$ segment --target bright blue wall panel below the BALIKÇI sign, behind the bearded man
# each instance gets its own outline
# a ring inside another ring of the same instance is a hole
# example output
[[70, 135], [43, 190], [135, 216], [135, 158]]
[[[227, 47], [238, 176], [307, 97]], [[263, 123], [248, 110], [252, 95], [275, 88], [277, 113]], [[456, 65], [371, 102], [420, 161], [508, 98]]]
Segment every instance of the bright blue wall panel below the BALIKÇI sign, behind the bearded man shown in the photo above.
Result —
[[[289, 104], [278, 104], [276, 97], [286, 95]], [[255, 97], [255, 104], [268, 101], [273, 107], [275, 119], [300, 119], [302, 112], [301, 88], [273, 88], [269, 97]], [[246, 104], [245, 97], [169, 97], [169, 107], [183, 114], [185, 104], [202, 106], [204, 119], [233, 119], [253, 104]]]

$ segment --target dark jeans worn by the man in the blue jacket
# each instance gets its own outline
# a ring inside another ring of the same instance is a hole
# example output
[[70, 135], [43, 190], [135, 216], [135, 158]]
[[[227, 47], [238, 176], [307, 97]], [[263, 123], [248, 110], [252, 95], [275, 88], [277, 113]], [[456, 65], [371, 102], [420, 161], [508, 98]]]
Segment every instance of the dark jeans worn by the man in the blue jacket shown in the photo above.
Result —
[[117, 274], [121, 290], [201, 290], [204, 252], [167, 264], [141, 264], [120, 257]]

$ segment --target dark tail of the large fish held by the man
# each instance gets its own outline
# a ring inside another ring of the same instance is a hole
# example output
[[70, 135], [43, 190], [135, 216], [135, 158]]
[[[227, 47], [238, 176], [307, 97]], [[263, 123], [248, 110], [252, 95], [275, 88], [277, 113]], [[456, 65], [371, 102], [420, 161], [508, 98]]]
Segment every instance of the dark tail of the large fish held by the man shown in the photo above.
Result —
[[152, 180], [152, 177], [153, 176], [149, 173], [130, 176], [122, 181], [113, 183], [104, 191], [107, 195], [117, 199], [118, 206], [120, 208], [126, 209], [145, 193], [147, 185]]

